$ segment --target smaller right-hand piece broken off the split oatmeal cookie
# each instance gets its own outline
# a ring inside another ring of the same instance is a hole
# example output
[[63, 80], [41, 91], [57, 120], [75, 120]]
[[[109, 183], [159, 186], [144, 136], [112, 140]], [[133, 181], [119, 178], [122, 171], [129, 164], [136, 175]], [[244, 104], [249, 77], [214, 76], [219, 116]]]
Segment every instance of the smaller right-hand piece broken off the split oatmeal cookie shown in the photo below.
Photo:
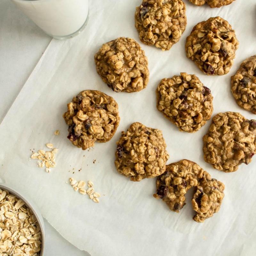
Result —
[[195, 221], [204, 222], [212, 217], [213, 213], [219, 212], [224, 189], [225, 185], [216, 179], [199, 181], [192, 198], [192, 207], [196, 211], [193, 217]]

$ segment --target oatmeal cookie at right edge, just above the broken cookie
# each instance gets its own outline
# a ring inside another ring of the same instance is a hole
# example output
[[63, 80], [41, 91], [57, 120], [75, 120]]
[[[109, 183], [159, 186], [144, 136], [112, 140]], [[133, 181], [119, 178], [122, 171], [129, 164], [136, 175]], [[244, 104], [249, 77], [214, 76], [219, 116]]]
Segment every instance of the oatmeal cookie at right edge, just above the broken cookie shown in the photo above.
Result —
[[236, 112], [219, 113], [203, 141], [205, 162], [223, 172], [235, 172], [256, 153], [256, 120]]

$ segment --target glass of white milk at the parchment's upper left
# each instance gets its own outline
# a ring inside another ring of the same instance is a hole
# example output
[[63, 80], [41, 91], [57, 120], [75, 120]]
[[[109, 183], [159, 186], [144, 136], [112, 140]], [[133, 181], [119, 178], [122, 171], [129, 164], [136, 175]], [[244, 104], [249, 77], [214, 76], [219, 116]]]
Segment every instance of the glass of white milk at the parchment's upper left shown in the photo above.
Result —
[[12, 0], [36, 25], [56, 39], [78, 35], [86, 26], [88, 0]]

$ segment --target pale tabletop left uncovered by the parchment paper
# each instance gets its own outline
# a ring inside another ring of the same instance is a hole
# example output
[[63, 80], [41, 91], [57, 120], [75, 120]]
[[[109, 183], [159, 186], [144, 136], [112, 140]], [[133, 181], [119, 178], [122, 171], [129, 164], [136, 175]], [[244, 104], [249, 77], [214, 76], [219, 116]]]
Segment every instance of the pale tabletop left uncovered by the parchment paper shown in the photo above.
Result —
[[[52, 40], [10, 0], [0, 1], [0, 123]], [[46, 256], [89, 255], [45, 220]]]

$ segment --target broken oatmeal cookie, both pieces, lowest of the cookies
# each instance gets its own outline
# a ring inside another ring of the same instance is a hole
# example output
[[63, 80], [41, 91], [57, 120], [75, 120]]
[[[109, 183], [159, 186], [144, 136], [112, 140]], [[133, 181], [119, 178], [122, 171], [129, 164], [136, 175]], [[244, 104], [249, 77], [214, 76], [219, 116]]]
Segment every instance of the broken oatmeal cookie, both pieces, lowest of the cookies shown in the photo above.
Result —
[[186, 204], [185, 194], [192, 187], [196, 187], [192, 198], [193, 209], [196, 211], [193, 219], [204, 222], [219, 211], [225, 186], [212, 179], [198, 164], [183, 159], [166, 165], [166, 171], [156, 180], [157, 192], [154, 197], [162, 198], [173, 212], [180, 212]]

